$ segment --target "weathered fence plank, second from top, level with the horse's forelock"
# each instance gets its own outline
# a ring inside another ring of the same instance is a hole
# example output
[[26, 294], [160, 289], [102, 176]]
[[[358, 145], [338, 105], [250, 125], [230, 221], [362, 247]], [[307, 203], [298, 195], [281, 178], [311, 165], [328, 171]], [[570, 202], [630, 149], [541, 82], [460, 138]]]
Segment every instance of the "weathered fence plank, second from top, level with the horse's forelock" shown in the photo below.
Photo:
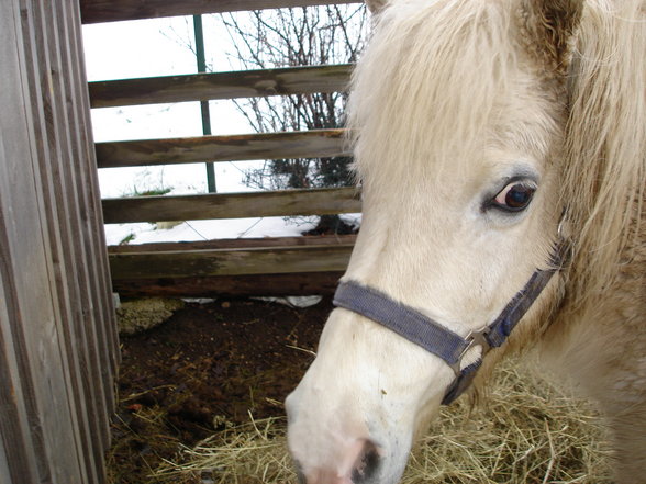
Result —
[[90, 82], [92, 108], [345, 91], [350, 64]]

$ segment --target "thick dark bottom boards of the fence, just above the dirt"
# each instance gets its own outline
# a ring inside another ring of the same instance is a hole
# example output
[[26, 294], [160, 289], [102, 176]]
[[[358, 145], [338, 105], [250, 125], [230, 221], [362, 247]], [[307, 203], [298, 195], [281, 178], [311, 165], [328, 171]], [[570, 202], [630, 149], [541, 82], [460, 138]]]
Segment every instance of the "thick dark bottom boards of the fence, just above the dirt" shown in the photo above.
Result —
[[[193, 243], [143, 244], [140, 246], [113, 246], [109, 248], [110, 266], [114, 290], [123, 296], [164, 295], [181, 297], [190, 294], [194, 297], [211, 297], [213, 294], [240, 296], [261, 294], [266, 296], [324, 294], [330, 295], [336, 289], [338, 279], [345, 271], [356, 236], [308, 236], [272, 237], [261, 239], [221, 239]], [[259, 250], [258, 250], [259, 249]], [[310, 250], [310, 252], [304, 252]], [[226, 251], [246, 251], [250, 255], [245, 263], [254, 274], [240, 273], [240, 268], [232, 270], [225, 266], [203, 270], [216, 257]], [[257, 251], [256, 251], [257, 250]], [[300, 257], [286, 260], [286, 250], [301, 250]], [[171, 254], [191, 254], [197, 272], [187, 272], [178, 268]], [[280, 257], [283, 264], [279, 273], [269, 273], [270, 266], [263, 258], [271, 254]], [[316, 254], [318, 259], [312, 260]], [[141, 272], [138, 255], [145, 255], [152, 263], [170, 263], [176, 275], [159, 277], [158, 273]], [[170, 258], [170, 261], [168, 259]], [[202, 263], [204, 258], [208, 263]], [[289, 266], [289, 267], [288, 267]], [[290, 271], [290, 272], [282, 272]]]

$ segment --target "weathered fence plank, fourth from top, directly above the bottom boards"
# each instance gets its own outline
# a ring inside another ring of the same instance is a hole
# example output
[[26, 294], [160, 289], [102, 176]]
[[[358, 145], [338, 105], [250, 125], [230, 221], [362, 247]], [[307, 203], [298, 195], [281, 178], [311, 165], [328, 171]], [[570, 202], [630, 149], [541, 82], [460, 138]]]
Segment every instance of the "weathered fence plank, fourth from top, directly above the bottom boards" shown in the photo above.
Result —
[[107, 224], [360, 212], [354, 188], [105, 199]]

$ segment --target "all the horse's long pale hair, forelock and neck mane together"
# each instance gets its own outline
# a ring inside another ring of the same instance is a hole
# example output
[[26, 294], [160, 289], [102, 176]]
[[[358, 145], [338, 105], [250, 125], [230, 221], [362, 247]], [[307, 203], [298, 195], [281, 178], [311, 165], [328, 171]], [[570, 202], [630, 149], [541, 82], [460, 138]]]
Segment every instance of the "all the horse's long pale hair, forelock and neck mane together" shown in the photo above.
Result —
[[[494, 109], [492, 99], [508, 89], [510, 63], [517, 61], [508, 38], [513, 12], [504, 13], [502, 7], [400, 0], [378, 15], [378, 34], [353, 78], [360, 95], [353, 93], [349, 101], [360, 173], [370, 171], [382, 179], [376, 181], [380, 187], [396, 190], [399, 170], [433, 176], [443, 162], [452, 162], [447, 140], [468, 144], [480, 137]], [[644, 0], [589, 0], [581, 20], [560, 193], [571, 234], [568, 297], [575, 306], [598, 296], [631, 257], [630, 249], [643, 244], [645, 18]], [[495, 61], [481, 63], [482, 56]], [[463, 101], [465, 89], [481, 92], [469, 97], [478, 105]], [[428, 158], [424, 147], [430, 138], [436, 159], [432, 167], [422, 161]], [[376, 165], [402, 156], [420, 162]]]

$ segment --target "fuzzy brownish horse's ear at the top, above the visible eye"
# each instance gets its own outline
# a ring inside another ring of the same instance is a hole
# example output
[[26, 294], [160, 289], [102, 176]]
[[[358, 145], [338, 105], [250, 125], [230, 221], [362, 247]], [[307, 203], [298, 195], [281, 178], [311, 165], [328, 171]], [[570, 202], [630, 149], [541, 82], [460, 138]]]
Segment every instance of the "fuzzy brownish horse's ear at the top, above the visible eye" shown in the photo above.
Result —
[[557, 72], [567, 71], [583, 0], [522, 0], [521, 30], [527, 49]]

